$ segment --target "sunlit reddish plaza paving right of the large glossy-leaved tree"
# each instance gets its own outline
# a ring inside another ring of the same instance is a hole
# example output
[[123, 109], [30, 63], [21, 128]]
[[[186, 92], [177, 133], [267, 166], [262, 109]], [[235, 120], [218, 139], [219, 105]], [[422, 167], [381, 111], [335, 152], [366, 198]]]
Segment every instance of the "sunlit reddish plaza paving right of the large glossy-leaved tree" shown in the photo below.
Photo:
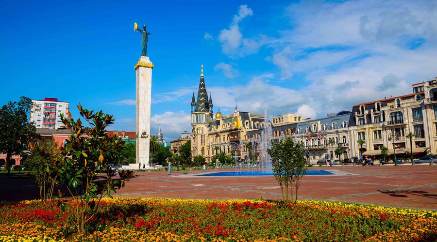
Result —
[[[315, 167], [310, 169], [316, 169]], [[318, 167], [334, 175], [304, 176], [299, 199], [437, 210], [437, 166]], [[216, 169], [207, 172], [230, 171]], [[136, 172], [119, 197], [280, 199], [273, 176], [196, 176], [202, 171]]]

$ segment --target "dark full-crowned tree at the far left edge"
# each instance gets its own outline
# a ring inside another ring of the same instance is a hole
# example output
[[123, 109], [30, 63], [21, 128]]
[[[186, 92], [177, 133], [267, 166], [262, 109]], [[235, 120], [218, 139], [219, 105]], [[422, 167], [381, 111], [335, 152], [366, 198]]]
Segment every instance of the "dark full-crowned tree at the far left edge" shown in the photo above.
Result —
[[20, 97], [18, 102], [9, 102], [0, 109], [0, 153], [6, 153], [4, 170], [11, 165], [12, 155], [20, 155], [29, 141], [38, 135], [33, 123], [27, 117], [32, 108], [32, 100]]

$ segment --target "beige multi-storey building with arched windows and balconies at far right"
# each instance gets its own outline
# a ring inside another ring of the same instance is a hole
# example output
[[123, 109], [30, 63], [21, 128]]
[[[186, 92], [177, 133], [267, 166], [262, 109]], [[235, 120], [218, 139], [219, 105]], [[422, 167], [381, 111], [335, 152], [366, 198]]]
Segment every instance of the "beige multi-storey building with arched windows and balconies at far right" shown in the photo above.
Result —
[[[436, 154], [433, 131], [436, 116], [428, 86], [432, 82], [414, 84], [414, 93], [408, 95], [353, 106], [349, 127], [352, 153], [359, 157], [361, 148], [357, 141], [362, 139], [365, 141], [363, 158], [382, 158], [383, 146], [388, 148], [391, 159], [395, 153], [397, 158], [409, 159], [411, 147], [416, 156]], [[413, 134], [411, 143], [407, 137], [410, 133]]]

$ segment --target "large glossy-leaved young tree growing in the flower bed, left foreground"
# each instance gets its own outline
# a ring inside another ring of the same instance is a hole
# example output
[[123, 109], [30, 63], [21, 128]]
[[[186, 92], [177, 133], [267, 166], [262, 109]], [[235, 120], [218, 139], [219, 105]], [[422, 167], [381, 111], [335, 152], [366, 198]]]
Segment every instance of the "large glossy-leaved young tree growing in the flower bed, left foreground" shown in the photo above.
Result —
[[[105, 177], [97, 177], [99, 166], [119, 160], [123, 141], [105, 130], [114, 121], [112, 115], [83, 109], [80, 104], [77, 107], [89, 126], [84, 126], [80, 119], [74, 121], [69, 112], [67, 118], [61, 115], [64, 126], [60, 129], [68, 129], [72, 135], [66, 147], [60, 148], [63, 165], [59, 173], [75, 201], [73, 223], [78, 233], [85, 234], [85, 223], [97, 212], [101, 198], [106, 195], [112, 197], [111, 192], [115, 193], [116, 189], [123, 187], [124, 181], [132, 178], [134, 171], [118, 172], [120, 180], [114, 180], [115, 172], [109, 168]], [[60, 206], [61, 210], [65, 210], [64, 203]]]

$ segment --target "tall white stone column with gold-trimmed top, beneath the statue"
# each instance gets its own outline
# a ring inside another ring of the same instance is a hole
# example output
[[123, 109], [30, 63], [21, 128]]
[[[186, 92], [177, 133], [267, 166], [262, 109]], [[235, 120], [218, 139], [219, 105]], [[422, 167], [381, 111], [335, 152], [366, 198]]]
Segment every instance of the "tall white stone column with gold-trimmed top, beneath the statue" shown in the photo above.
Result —
[[151, 72], [153, 63], [141, 56], [135, 64], [136, 70], [136, 166], [149, 165]]

